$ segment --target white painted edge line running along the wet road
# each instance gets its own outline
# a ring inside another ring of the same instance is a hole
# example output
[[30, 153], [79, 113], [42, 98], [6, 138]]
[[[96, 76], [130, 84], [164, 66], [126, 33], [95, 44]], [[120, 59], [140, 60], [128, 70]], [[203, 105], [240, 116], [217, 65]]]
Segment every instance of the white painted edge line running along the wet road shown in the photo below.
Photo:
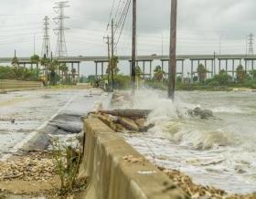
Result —
[[77, 98], [78, 95], [73, 96], [72, 98], [69, 99], [69, 101], [65, 104], [65, 106], [63, 106], [62, 108], [60, 108], [53, 116], [51, 116], [49, 118], [49, 120], [46, 120], [42, 125], [40, 125], [35, 131], [32, 131], [31, 133], [29, 133], [27, 135], [27, 137], [25, 139], [23, 139], [22, 141], [19, 141], [11, 150], [10, 153], [3, 155], [3, 157], [0, 159], [0, 161], [5, 162], [7, 159], [9, 159], [12, 156], [12, 153], [16, 153], [18, 152], [18, 150], [20, 150], [28, 141], [30, 141], [32, 138], [34, 138], [37, 133], [41, 130], [43, 130], [47, 125], [48, 122], [50, 122], [51, 120], [55, 119], [59, 113], [62, 110], [65, 110], [69, 104], [75, 99]]

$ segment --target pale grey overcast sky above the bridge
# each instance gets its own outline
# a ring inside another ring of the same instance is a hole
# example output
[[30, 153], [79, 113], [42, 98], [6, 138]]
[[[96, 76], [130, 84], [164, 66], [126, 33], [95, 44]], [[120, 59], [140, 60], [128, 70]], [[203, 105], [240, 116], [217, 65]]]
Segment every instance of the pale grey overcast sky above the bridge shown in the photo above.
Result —
[[[65, 9], [68, 53], [70, 56], [106, 55], [103, 37], [111, 10], [120, 16], [127, 0], [70, 0]], [[51, 49], [55, 52], [57, 27], [52, 18], [55, 0], [8, 0], [0, 7], [0, 56], [19, 57], [33, 54], [34, 34], [36, 52], [41, 54], [43, 18], [49, 16]], [[171, 0], [137, 0], [138, 49], [140, 55], [168, 52]], [[120, 4], [120, 5], [119, 5]], [[119, 5], [119, 10], [116, 12]], [[178, 0], [177, 53], [213, 54], [245, 53], [246, 36], [256, 34], [255, 0]], [[117, 47], [118, 55], [131, 54], [131, 8]], [[163, 42], [162, 42], [163, 41]], [[219, 43], [221, 45], [219, 45]], [[219, 47], [220, 46], [220, 47]]]

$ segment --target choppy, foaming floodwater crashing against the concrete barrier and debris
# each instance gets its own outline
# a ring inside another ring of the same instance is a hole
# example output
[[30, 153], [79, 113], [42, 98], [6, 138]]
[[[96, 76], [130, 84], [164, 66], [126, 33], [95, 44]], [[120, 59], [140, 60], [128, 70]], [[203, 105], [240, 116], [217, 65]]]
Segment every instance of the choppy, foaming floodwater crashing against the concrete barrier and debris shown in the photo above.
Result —
[[[163, 92], [140, 91], [135, 107], [154, 110], [155, 128], [124, 137], [149, 160], [228, 193], [256, 192], [256, 92], [177, 92], [173, 103]], [[189, 118], [196, 107], [215, 117]]]

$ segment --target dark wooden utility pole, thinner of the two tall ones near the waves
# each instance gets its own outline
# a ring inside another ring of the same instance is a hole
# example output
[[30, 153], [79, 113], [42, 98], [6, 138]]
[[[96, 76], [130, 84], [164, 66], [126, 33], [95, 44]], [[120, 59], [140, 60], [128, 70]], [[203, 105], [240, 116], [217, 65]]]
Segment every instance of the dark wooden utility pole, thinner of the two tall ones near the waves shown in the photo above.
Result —
[[133, 0], [132, 95], [135, 94], [136, 76], [136, 0]]

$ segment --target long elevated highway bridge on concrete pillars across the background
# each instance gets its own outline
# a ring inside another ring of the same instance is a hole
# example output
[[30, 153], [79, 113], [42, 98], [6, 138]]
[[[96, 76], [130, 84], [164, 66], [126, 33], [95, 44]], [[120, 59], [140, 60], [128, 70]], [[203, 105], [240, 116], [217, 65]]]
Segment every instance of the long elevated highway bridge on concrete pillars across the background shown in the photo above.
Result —
[[[130, 61], [131, 56], [119, 56], [119, 61]], [[11, 63], [13, 58], [0, 58], [0, 63]], [[80, 77], [80, 63], [81, 62], [94, 62], [95, 63], [95, 75], [103, 76], [104, 74], [104, 63], [107, 63], [108, 57], [106, 56], [78, 56], [78, 57], [64, 57], [57, 58], [61, 63], [71, 64], [71, 68], [74, 67], [74, 64], [78, 66], [78, 76]], [[159, 55], [146, 55], [146, 56], [137, 56], [136, 62], [139, 66], [143, 67], [144, 75], [152, 76], [152, 62], [158, 60], [162, 62], [162, 68], [164, 69], [165, 62], [168, 62], [169, 56], [159, 56]], [[203, 63], [206, 68], [208, 68], [208, 73], [211, 77], [217, 74], [220, 69], [224, 69], [235, 77], [235, 68], [237, 67], [237, 62], [244, 66], [245, 70], [254, 69], [254, 62], [256, 60], [256, 55], [245, 55], [245, 54], [236, 54], [236, 55], [177, 55], [176, 61], [181, 62], [181, 71], [179, 74], [184, 77], [185, 73], [185, 61], [190, 61], [189, 76], [193, 79], [194, 75], [197, 73], [197, 66], [200, 63]], [[18, 58], [19, 64], [24, 67], [27, 64], [31, 65], [30, 58]], [[230, 65], [231, 61], [231, 65]], [[196, 62], [196, 64], [195, 64]], [[210, 62], [210, 63], [209, 63]], [[149, 63], [149, 74], [145, 74], [146, 63]], [[223, 64], [224, 63], [224, 64]], [[98, 74], [98, 67], [101, 67], [101, 75]], [[106, 66], [105, 66], [106, 67]], [[131, 64], [130, 64], [131, 71]], [[166, 71], [165, 71], [166, 72]]]

